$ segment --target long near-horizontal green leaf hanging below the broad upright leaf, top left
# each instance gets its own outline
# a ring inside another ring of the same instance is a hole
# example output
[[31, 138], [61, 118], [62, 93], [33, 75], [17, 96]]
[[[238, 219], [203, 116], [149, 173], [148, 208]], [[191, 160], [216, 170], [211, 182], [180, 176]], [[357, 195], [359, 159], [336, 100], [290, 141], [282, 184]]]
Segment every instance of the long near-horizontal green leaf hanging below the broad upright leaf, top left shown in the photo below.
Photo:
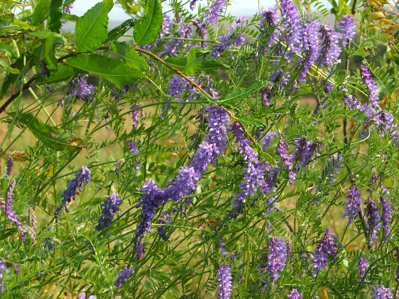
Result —
[[144, 76], [144, 73], [129, 69], [120, 60], [99, 54], [77, 55], [64, 63], [97, 74], [114, 83], [119, 89], [122, 89], [124, 84], [132, 84]]

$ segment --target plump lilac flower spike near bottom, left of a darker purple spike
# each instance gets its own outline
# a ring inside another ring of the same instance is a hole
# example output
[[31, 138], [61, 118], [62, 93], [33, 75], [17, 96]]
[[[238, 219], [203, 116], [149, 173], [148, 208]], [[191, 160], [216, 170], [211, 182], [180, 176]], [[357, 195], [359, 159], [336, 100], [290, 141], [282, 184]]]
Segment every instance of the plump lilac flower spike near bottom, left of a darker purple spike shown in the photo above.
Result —
[[287, 246], [283, 238], [271, 237], [269, 240], [269, 252], [266, 256], [266, 272], [274, 284], [280, 277], [279, 272], [284, 271], [287, 261]]

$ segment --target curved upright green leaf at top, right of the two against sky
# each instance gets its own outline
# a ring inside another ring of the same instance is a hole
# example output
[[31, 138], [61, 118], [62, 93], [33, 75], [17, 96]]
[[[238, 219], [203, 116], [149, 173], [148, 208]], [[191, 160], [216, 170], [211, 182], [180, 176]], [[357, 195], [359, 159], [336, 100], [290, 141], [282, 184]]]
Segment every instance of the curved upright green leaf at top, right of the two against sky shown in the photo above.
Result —
[[164, 17], [158, 0], [146, 1], [146, 13], [134, 26], [133, 36], [137, 45], [143, 46], [152, 43], [160, 32]]

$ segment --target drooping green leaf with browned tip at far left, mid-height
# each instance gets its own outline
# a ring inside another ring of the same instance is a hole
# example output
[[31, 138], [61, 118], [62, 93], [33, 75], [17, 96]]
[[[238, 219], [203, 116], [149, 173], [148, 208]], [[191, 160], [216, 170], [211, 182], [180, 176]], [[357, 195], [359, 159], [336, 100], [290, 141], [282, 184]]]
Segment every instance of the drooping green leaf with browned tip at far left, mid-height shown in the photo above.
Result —
[[[15, 112], [9, 113], [11, 117], [15, 116]], [[34, 134], [34, 136], [45, 146], [57, 151], [80, 151], [84, 145], [82, 140], [76, 138], [75, 135], [61, 128], [52, 127], [48, 124], [40, 122], [33, 114], [18, 114], [17, 122], [24, 124]]]

